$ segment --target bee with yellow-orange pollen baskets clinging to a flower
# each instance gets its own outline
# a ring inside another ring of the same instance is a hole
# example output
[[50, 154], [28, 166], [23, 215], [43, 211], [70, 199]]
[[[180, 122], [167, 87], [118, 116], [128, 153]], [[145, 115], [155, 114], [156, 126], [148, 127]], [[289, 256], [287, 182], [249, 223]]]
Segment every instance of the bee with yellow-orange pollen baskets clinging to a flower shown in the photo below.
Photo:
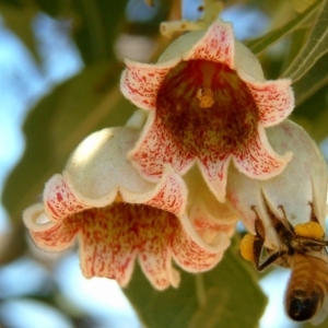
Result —
[[[254, 206], [251, 210], [256, 214], [256, 235], [247, 234], [242, 239], [242, 256], [251, 261], [258, 271], [271, 263], [290, 268], [285, 312], [295, 321], [309, 320], [313, 325], [318, 325], [328, 313], [328, 257], [325, 248], [328, 241], [324, 239], [324, 230], [315, 216], [312, 203], [309, 221], [294, 227], [286, 219], [283, 206], [279, 206], [283, 214], [281, 220], [272, 213], [266, 197], [262, 197], [279, 245], [274, 249], [265, 246], [265, 226]], [[263, 256], [266, 258], [262, 260]]]

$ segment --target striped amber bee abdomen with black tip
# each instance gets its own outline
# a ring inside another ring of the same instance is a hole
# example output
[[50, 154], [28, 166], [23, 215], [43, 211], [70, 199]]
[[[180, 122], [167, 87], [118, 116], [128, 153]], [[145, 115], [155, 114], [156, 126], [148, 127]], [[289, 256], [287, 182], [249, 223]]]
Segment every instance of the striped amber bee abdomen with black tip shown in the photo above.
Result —
[[328, 266], [309, 255], [295, 255], [285, 295], [285, 309], [296, 321], [311, 319], [321, 307], [328, 291]]

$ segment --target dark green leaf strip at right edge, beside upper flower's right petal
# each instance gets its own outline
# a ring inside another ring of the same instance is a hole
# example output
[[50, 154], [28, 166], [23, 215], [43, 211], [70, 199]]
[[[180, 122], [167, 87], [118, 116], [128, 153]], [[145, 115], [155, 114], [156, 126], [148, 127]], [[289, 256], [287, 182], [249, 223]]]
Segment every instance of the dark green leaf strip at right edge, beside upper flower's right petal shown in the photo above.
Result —
[[300, 105], [328, 83], [328, 54], [293, 84], [296, 104]]

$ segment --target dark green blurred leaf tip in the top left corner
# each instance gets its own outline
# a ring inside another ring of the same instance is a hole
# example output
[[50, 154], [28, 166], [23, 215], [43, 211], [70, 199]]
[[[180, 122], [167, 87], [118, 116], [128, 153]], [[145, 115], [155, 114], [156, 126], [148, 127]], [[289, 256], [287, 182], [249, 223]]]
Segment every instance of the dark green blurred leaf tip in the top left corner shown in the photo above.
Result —
[[0, 3], [0, 14], [4, 19], [5, 26], [21, 39], [35, 60], [39, 62], [40, 58], [32, 30], [32, 21], [36, 14], [35, 8], [30, 5], [20, 8]]

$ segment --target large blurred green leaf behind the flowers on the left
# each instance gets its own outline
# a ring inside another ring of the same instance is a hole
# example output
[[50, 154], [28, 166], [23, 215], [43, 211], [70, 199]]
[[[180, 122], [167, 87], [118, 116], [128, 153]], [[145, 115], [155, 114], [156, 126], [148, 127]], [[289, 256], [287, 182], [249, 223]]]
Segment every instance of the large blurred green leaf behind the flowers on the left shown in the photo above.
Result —
[[133, 112], [118, 90], [120, 68], [99, 63], [45, 96], [31, 110], [23, 130], [26, 150], [10, 174], [3, 204], [12, 219], [35, 202], [44, 184], [63, 168], [71, 151], [92, 131], [122, 125]]

